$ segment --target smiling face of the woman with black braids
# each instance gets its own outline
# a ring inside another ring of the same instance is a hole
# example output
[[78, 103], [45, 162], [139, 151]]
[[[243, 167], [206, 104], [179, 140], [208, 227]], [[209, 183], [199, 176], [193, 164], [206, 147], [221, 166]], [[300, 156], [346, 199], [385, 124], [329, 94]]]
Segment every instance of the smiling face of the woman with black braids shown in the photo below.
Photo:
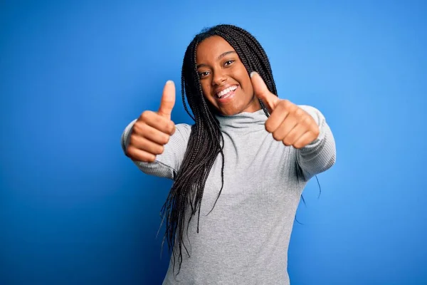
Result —
[[199, 43], [196, 64], [204, 97], [219, 113], [236, 115], [260, 110], [248, 71], [226, 40], [211, 36]]

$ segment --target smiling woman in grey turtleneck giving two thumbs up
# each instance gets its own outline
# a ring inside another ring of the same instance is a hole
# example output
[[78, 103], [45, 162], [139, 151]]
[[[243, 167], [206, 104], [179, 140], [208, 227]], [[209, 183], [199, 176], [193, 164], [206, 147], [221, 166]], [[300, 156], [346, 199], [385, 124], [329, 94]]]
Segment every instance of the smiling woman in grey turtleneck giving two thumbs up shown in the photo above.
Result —
[[263, 48], [236, 26], [195, 36], [181, 86], [194, 125], [172, 122], [168, 81], [158, 112], [145, 111], [122, 135], [140, 170], [174, 180], [162, 209], [173, 249], [164, 284], [289, 284], [302, 190], [335, 162], [324, 116], [278, 98]]

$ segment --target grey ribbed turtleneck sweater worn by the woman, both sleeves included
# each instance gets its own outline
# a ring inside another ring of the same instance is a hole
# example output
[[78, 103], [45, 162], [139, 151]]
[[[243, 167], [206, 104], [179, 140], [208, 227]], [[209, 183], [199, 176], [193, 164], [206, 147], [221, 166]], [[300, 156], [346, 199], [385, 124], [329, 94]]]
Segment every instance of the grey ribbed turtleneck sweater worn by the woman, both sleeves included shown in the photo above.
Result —
[[[273, 139], [265, 130], [263, 110], [217, 116], [224, 138], [223, 190], [206, 216], [221, 189], [222, 158], [218, 155], [201, 201], [199, 233], [194, 217], [188, 239], [184, 235], [190, 257], [183, 248], [178, 276], [174, 277], [170, 263], [164, 285], [290, 284], [288, 244], [302, 190], [311, 177], [334, 164], [336, 153], [322, 113], [307, 105], [300, 108], [320, 126], [317, 140], [300, 150]], [[122, 134], [123, 150], [134, 122]], [[190, 125], [176, 125], [176, 132], [155, 162], [135, 164], [149, 175], [174, 180], [190, 133]]]

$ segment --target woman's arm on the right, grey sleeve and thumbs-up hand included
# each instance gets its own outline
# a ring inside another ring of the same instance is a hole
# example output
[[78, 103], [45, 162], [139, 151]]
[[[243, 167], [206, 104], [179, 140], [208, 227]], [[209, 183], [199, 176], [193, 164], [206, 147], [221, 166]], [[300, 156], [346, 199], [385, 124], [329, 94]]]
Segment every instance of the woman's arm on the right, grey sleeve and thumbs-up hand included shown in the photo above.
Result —
[[268, 90], [260, 75], [251, 73], [253, 92], [270, 111], [265, 130], [284, 145], [295, 147], [296, 163], [305, 180], [335, 163], [335, 141], [325, 117], [307, 105], [282, 100]]

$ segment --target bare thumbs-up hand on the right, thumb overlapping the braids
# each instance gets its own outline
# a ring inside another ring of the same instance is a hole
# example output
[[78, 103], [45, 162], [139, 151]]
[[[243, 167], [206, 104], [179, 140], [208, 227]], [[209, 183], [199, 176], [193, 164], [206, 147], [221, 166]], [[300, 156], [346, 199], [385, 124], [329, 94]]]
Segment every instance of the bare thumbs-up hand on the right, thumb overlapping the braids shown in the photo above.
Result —
[[258, 73], [251, 73], [251, 81], [253, 92], [268, 108], [270, 117], [265, 121], [265, 130], [272, 133], [275, 140], [302, 148], [317, 139], [319, 126], [309, 113], [271, 93]]

